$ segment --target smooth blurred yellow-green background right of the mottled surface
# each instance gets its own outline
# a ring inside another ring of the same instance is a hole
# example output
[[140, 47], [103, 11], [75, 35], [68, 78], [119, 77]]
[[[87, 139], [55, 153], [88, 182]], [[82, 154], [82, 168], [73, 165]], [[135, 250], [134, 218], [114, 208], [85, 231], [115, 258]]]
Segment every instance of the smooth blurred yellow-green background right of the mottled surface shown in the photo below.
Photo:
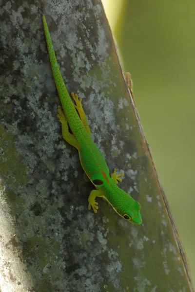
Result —
[[195, 283], [195, 0], [102, 2]]

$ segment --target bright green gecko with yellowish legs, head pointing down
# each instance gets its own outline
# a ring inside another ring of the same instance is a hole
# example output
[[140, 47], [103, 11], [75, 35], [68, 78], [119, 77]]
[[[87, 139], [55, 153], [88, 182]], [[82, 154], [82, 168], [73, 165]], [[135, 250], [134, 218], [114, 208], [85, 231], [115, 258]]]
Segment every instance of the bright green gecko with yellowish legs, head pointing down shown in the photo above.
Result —
[[[119, 216], [132, 223], [141, 224], [140, 204], [117, 186], [117, 183], [122, 181], [120, 176], [123, 174], [117, 175], [116, 169], [112, 174], [109, 174], [104, 156], [91, 138], [91, 131], [81, 105], [81, 99], [72, 92], [71, 96], [75, 103], [71, 100], [59, 71], [44, 15], [42, 16], [42, 21], [51, 69], [62, 106], [62, 108], [61, 106], [58, 107], [62, 137], [67, 143], [78, 149], [81, 166], [96, 187], [89, 195], [88, 210], [91, 210], [92, 207], [94, 213], [97, 213], [98, 202], [96, 197], [101, 197], [111, 204]], [[72, 133], [69, 132], [69, 127]]]

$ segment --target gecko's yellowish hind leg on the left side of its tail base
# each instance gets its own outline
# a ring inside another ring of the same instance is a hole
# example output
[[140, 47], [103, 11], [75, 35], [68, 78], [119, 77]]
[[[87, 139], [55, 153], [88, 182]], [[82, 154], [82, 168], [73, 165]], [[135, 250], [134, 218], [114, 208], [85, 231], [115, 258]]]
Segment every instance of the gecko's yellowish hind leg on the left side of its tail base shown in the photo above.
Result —
[[61, 123], [61, 131], [63, 139], [70, 145], [79, 148], [78, 141], [73, 134], [69, 132], [68, 122], [64, 115], [64, 112], [60, 106], [58, 106], [58, 115], [59, 122]]

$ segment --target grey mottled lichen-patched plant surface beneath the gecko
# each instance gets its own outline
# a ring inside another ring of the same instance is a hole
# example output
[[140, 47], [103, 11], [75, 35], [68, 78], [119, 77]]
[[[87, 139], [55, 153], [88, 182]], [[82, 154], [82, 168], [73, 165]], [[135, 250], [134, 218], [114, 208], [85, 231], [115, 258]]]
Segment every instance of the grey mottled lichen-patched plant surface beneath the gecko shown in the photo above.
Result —
[[[118, 63], [100, 0], [1, 1], [1, 292], [192, 292], [185, 255]], [[69, 91], [83, 98], [94, 141], [143, 224], [107, 202], [64, 143], [45, 14]], [[141, 86], [141, 85], [140, 85]]]

